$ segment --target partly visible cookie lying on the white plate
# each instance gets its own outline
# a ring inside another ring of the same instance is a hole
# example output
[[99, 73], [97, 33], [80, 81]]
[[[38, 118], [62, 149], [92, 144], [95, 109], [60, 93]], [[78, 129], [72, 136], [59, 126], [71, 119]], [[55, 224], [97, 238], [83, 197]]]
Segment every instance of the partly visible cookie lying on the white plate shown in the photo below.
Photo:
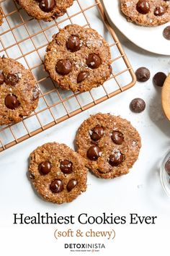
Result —
[[170, 21], [169, 0], [121, 0], [121, 10], [130, 22], [157, 26]]

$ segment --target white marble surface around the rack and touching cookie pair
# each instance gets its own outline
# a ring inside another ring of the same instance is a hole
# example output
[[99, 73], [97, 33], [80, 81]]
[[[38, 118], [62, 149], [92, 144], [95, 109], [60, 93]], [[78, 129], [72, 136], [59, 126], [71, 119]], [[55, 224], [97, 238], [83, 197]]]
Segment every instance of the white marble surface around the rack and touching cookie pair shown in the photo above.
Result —
[[[116, 30], [117, 31], [117, 30]], [[27, 226], [13, 224], [13, 213], [34, 215], [40, 213], [57, 213], [58, 216], [81, 213], [99, 216], [113, 213], [115, 216], [128, 216], [138, 213], [140, 216], [157, 216], [155, 225], [86, 225], [76, 223], [72, 229], [114, 229], [114, 242], [102, 240], [106, 249], [98, 255], [168, 255], [170, 228], [170, 199], [161, 187], [159, 177], [160, 161], [169, 150], [170, 123], [161, 111], [161, 88], [153, 86], [152, 77], [156, 72], [170, 72], [169, 56], [150, 54], [130, 43], [117, 31], [125, 52], [134, 69], [148, 67], [151, 79], [138, 83], [130, 90], [117, 95], [84, 113], [74, 116], [57, 126], [32, 137], [19, 145], [0, 154], [0, 237], [1, 255], [47, 255], [63, 252], [64, 242], [77, 242], [78, 239], [57, 241], [53, 237], [55, 229], [68, 229], [68, 226]], [[154, 43], [154, 42], [153, 42]], [[129, 103], [140, 97], [146, 101], [146, 110], [142, 114], [130, 112]], [[142, 138], [142, 149], [138, 161], [130, 173], [112, 180], [97, 179], [88, 174], [87, 191], [71, 204], [53, 205], [41, 200], [30, 186], [27, 179], [28, 155], [38, 145], [45, 142], [63, 142], [73, 148], [76, 130], [89, 114], [98, 111], [111, 112], [128, 120], [138, 129]], [[89, 241], [90, 240], [90, 241]], [[81, 242], [99, 242], [101, 240], [82, 239]], [[80, 241], [79, 241], [80, 242]], [[77, 252], [79, 253], [79, 252]]]

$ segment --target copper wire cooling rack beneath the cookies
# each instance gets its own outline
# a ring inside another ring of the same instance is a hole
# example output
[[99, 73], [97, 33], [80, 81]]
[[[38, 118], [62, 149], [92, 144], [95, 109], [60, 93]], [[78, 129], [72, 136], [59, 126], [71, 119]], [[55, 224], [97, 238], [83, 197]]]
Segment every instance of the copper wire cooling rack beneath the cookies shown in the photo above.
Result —
[[[31, 116], [17, 124], [0, 126], [0, 152], [135, 84], [133, 69], [99, 0], [75, 0], [66, 14], [53, 22], [38, 22], [16, 1], [1, 0], [0, 3], [4, 12], [4, 23], [0, 27], [0, 56], [4, 54], [29, 68], [40, 88], [40, 101]], [[86, 93], [61, 90], [43, 69], [45, 48], [52, 35], [73, 23], [96, 29], [107, 40], [112, 53], [112, 76], [104, 85]]]

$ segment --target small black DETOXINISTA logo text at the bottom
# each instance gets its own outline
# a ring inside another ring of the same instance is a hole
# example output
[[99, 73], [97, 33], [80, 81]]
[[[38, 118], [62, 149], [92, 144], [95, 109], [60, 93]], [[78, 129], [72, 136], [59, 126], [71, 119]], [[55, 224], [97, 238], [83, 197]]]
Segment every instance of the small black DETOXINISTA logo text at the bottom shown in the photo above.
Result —
[[71, 252], [99, 252], [100, 249], [105, 249], [104, 244], [64, 244], [65, 249], [70, 249]]

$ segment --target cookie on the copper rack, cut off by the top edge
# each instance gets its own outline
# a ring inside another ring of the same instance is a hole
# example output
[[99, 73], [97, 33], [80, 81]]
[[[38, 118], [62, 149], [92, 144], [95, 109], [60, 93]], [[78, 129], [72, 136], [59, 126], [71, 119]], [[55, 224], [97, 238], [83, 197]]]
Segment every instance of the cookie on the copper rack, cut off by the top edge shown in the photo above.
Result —
[[65, 14], [73, 0], [16, 0], [18, 4], [37, 20], [50, 21]]

